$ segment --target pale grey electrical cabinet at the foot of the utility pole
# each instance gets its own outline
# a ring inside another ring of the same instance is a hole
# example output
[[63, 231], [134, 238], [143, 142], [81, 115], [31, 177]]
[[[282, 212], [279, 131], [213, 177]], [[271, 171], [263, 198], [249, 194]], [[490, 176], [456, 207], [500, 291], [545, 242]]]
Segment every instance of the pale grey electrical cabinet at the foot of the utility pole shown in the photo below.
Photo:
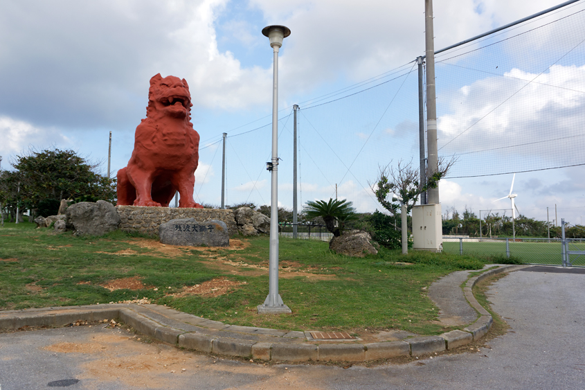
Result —
[[413, 249], [442, 251], [443, 229], [440, 204], [413, 207]]

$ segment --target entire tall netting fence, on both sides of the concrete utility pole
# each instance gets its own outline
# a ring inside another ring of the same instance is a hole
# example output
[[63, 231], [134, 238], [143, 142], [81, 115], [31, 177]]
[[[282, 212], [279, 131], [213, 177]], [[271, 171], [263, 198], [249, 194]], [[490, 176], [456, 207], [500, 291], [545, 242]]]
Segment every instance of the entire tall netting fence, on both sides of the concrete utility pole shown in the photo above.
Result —
[[[585, 164], [585, 2], [438, 53], [435, 73], [439, 155], [458, 159], [447, 178]], [[379, 169], [399, 161], [420, 166], [418, 89], [417, 63], [405, 59], [371, 80], [298, 103], [299, 209], [330, 197], [360, 212], [381, 209], [370, 188]], [[278, 199], [287, 209], [293, 129], [289, 107], [280, 112], [278, 146]], [[201, 148], [215, 181], [198, 178], [195, 193], [202, 186], [219, 193], [221, 136]], [[270, 203], [270, 157], [269, 117], [228, 134], [226, 203]]]

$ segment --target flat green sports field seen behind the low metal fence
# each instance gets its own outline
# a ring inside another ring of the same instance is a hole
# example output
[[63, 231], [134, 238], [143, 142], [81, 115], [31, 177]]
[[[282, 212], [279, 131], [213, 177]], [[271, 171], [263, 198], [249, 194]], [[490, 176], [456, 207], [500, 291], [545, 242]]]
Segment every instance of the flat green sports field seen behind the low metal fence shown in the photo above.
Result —
[[[443, 250], [458, 254], [459, 241], [443, 241]], [[570, 242], [570, 251], [585, 251], [585, 242]], [[505, 240], [485, 240], [482, 242], [463, 239], [463, 254], [498, 255], [506, 254]], [[510, 240], [510, 256], [521, 259], [524, 263], [561, 265], [561, 242], [531, 242]], [[585, 266], [585, 256], [570, 255], [570, 263]]]

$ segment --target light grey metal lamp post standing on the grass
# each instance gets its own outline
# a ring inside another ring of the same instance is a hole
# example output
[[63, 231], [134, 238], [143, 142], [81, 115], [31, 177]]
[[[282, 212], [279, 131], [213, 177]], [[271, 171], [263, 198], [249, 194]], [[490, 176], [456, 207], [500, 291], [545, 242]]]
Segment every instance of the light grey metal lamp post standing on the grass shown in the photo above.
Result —
[[270, 39], [273, 48], [272, 77], [272, 159], [267, 163], [271, 171], [270, 199], [270, 249], [269, 249], [269, 291], [266, 300], [258, 305], [258, 313], [281, 314], [290, 313], [290, 308], [282, 302], [278, 294], [278, 49], [291, 30], [285, 26], [267, 26], [262, 34]]

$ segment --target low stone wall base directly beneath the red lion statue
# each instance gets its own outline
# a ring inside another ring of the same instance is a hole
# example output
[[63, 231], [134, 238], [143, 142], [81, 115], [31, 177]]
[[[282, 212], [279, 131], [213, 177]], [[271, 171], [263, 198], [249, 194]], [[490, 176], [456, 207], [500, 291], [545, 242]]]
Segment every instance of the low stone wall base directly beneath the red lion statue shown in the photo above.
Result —
[[237, 233], [233, 210], [176, 209], [170, 207], [116, 206], [120, 215], [120, 230], [159, 236], [159, 226], [179, 218], [195, 218], [198, 222], [219, 220], [226, 223], [228, 233]]

